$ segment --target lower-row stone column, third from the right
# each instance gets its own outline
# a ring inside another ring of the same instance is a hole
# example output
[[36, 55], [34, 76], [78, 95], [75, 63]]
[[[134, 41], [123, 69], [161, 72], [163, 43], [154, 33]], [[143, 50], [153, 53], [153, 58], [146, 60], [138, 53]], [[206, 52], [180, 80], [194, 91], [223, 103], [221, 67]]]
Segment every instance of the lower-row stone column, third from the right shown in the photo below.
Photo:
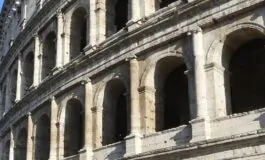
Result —
[[82, 82], [85, 87], [85, 148], [86, 159], [93, 159], [93, 128], [92, 128], [92, 107], [93, 91], [91, 81]]

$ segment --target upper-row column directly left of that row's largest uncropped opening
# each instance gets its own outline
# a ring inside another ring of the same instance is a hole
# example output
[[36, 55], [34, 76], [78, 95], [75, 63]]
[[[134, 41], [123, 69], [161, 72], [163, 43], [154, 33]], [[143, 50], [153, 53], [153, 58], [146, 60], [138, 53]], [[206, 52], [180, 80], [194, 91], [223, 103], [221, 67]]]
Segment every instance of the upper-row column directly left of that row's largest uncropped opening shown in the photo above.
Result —
[[62, 11], [57, 11], [57, 53], [56, 53], [56, 68], [60, 69], [63, 66], [63, 28], [64, 20]]

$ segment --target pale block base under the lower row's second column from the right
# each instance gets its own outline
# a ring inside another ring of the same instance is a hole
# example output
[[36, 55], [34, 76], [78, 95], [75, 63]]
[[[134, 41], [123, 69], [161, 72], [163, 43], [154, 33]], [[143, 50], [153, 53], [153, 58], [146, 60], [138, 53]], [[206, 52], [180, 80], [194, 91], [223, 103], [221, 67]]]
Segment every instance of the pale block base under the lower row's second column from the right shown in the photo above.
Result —
[[126, 136], [124, 139], [126, 144], [126, 153], [124, 155], [125, 157], [142, 152], [142, 139], [140, 135], [131, 134]]

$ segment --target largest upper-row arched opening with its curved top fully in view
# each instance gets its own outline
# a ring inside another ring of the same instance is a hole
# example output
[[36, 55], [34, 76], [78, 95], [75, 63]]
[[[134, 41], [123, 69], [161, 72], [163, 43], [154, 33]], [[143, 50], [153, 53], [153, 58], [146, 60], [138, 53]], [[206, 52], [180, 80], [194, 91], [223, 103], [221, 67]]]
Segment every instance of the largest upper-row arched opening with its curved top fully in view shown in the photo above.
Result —
[[86, 10], [78, 8], [71, 18], [70, 59], [76, 58], [87, 43]]

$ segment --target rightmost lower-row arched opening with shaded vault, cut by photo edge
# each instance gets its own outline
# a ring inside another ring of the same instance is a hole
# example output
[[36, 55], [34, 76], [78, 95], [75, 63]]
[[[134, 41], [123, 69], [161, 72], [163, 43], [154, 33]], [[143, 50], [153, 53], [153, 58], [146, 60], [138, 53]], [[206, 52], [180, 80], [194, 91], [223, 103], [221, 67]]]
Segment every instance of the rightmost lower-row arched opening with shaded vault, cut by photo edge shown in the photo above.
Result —
[[223, 97], [216, 99], [225, 101], [226, 108], [222, 110], [226, 114], [264, 106], [264, 41], [265, 35], [253, 28], [241, 28], [226, 36], [221, 61], [215, 62], [224, 68], [223, 79], [215, 81], [215, 85], [223, 86], [219, 89]]

